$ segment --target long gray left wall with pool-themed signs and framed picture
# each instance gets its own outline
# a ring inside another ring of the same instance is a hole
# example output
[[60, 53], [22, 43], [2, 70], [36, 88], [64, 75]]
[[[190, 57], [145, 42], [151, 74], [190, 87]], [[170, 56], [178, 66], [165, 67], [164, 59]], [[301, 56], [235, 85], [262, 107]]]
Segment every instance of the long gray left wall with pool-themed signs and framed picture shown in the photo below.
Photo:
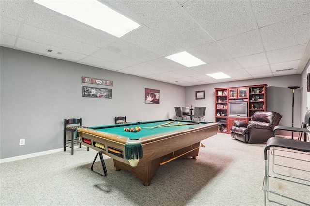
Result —
[[[65, 118], [83, 118], [85, 126], [114, 124], [115, 116], [148, 121], [174, 118], [174, 106], [184, 106], [181, 86], [5, 47], [0, 60], [0, 159], [63, 148]], [[114, 86], [82, 83], [82, 76]], [[111, 88], [112, 99], [82, 97], [83, 85]], [[144, 88], [159, 89], [160, 104], [145, 104]]]

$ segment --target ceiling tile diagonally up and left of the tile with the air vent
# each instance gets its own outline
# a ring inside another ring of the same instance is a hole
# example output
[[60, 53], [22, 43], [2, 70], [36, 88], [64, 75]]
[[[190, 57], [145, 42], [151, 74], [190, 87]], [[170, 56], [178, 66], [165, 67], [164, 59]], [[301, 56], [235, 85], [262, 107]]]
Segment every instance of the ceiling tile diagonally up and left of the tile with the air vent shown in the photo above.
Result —
[[239, 57], [235, 59], [243, 68], [256, 67], [268, 64], [265, 53]]

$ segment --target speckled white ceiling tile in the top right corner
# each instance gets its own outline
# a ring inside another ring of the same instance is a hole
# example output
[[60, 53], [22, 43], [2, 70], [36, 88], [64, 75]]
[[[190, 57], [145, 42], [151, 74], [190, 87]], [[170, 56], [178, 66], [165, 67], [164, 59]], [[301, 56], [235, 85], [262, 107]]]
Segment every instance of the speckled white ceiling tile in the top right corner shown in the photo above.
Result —
[[304, 15], [310, 11], [309, 0], [254, 0], [251, 1], [259, 28]]

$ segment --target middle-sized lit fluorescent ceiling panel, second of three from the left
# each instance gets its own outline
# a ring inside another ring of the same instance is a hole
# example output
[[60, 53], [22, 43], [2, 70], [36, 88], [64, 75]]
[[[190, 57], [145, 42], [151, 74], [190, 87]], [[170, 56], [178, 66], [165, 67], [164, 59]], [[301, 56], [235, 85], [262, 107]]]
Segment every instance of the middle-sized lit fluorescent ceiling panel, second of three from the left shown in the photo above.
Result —
[[197, 59], [196, 57], [187, 53], [186, 51], [167, 56], [166, 58], [175, 61], [179, 64], [182, 64], [186, 67], [194, 67], [205, 64], [205, 62], [203, 62], [200, 59]]

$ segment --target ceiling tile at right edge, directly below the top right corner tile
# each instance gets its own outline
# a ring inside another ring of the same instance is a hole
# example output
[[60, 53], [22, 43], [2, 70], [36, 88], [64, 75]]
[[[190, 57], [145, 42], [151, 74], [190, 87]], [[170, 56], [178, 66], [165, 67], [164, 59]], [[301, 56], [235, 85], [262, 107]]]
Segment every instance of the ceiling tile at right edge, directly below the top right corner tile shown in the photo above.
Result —
[[310, 14], [260, 28], [266, 51], [305, 44], [310, 36]]

